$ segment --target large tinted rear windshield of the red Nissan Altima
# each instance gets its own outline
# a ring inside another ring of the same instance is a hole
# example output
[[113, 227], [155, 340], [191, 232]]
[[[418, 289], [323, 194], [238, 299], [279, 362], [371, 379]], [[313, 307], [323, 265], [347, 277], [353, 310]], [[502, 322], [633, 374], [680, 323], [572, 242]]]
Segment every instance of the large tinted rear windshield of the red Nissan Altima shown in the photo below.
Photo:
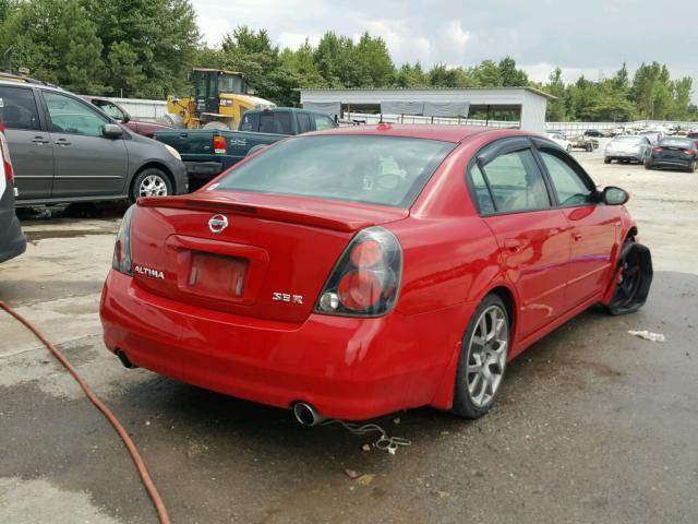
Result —
[[278, 143], [216, 189], [408, 209], [456, 144], [395, 136], [302, 136]]

